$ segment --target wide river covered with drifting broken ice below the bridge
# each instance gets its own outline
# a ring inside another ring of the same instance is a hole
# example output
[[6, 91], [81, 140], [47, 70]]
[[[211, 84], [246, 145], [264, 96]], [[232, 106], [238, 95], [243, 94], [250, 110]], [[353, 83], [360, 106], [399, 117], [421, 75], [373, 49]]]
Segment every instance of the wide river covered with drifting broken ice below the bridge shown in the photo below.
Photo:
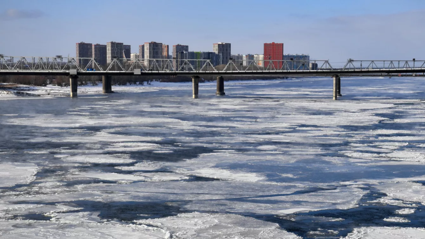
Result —
[[0, 238], [424, 238], [423, 80], [0, 97]]

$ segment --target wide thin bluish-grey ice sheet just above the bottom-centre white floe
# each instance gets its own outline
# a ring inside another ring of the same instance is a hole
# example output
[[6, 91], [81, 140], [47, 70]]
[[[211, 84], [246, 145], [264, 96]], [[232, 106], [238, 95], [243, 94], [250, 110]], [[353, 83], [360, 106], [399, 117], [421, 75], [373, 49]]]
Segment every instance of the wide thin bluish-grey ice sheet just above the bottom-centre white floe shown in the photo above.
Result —
[[244, 181], [136, 182], [125, 187], [87, 185], [81, 190], [115, 192], [103, 195], [107, 201], [164, 201], [189, 211], [240, 214], [286, 214], [285, 210], [300, 208], [348, 209], [356, 207], [366, 193], [351, 187], [308, 188]]

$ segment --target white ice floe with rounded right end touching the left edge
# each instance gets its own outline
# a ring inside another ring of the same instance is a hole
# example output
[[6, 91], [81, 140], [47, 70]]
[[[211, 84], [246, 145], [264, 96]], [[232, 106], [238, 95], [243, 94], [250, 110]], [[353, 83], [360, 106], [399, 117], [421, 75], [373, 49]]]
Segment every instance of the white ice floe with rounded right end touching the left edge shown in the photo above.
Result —
[[35, 179], [39, 167], [32, 163], [0, 164], [0, 187], [26, 184]]

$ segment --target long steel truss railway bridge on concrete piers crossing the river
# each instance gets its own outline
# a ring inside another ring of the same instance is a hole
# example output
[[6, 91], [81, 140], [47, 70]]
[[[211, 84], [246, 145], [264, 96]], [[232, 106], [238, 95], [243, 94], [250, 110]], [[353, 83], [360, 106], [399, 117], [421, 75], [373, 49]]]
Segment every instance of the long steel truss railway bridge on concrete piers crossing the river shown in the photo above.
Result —
[[69, 76], [71, 97], [77, 97], [78, 76], [102, 76], [103, 93], [112, 93], [112, 76], [192, 76], [198, 98], [199, 76], [216, 75], [216, 95], [225, 95], [223, 76], [333, 76], [334, 100], [341, 96], [341, 76], [397, 76], [425, 73], [424, 60], [353, 60], [341, 68], [328, 60], [229, 60], [214, 66], [208, 59], [118, 59], [100, 65], [94, 58], [12, 57], [0, 54], [0, 75]]

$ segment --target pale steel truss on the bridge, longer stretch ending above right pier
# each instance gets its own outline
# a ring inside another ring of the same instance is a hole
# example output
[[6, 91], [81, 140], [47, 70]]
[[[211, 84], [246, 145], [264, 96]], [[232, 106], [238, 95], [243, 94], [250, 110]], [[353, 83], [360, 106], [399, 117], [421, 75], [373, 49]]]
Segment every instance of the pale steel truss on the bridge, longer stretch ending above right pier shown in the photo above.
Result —
[[94, 58], [12, 57], [0, 54], [0, 70], [12, 71], [288, 71], [334, 69], [323, 60], [229, 60], [218, 59], [124, 59], [114, 58], [103, 64]]

